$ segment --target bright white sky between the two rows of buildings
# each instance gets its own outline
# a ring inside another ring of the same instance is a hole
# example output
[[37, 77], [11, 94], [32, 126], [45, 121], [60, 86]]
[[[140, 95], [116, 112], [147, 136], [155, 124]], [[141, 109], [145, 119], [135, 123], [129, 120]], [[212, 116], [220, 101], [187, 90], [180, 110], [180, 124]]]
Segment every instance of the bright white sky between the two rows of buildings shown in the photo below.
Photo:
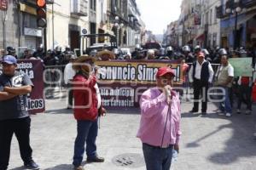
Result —
[[136, 0], [146, 24], [154, 34], [163, 34], [168, 24], [177, 20], [182, 0]]

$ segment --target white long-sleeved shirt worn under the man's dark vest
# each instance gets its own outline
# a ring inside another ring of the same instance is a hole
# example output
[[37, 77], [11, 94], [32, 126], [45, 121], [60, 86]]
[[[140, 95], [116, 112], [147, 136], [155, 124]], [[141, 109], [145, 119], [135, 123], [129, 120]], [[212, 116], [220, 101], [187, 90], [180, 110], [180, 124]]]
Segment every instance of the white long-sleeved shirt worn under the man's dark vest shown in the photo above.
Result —
[[[202, 65], [207, 62], [207, 60], [205, 59], [202, 64], [200, 65], [198, 61], [196, 61], [195, 63], [195, 78], [196, 79], [201, 79], [201, 67]], [[193, 65], [191, 66], [190, 68], [190, 71], [189, 71], [189, 82], [193, 82], [194, 81], [194, 78], [193, 78], [193, 70], [194, 70], [194, 67]], [[213, 75], [214, 75], [214, 71], [212, 69], [212, 65], [211, 63], [209, 63], [208, 65], [208, 70], [209, 70], [209, 79], [208, 79], [208, 82], [212, 82], [212, 78], [213, 78]]]

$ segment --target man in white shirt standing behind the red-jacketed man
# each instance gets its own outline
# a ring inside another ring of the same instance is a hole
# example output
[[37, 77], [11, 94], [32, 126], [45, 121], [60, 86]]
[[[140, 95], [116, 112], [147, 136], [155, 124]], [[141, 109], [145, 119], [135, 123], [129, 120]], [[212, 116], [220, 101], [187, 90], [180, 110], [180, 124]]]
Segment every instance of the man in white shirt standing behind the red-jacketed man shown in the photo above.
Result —
[[73, 70], [72, 65], [73, 62], [77, 59], [77, 57], [72, 54], [69, 60], [69, 63], [65, 66], [64, 69], [64, 82], [67, 85], [67, 91], [68, 91], [68, 105], [67, 109], [73, 108], [73, 90], [72, 90], [72, 80], [75, 76], [76, 72]]

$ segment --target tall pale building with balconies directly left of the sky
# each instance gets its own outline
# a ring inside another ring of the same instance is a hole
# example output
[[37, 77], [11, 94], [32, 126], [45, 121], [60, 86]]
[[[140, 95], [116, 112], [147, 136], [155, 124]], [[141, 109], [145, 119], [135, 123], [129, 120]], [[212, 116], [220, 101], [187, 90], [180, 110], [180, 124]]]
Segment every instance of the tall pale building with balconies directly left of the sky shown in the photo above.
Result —
[[109, 0], [108, 25], [120, 47], [133, 48], [145, 40], [145, 24], [135, 0]]

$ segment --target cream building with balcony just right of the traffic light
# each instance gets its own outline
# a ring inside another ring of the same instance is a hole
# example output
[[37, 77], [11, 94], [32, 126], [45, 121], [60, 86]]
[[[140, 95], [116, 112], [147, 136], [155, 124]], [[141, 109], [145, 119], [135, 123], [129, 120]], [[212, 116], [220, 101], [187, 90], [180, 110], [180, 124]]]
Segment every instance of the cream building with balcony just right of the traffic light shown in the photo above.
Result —
[[47, 5], [47, 48], [80, 48], [83, 29], [90, 31], [87, 0], [55, 0]]

